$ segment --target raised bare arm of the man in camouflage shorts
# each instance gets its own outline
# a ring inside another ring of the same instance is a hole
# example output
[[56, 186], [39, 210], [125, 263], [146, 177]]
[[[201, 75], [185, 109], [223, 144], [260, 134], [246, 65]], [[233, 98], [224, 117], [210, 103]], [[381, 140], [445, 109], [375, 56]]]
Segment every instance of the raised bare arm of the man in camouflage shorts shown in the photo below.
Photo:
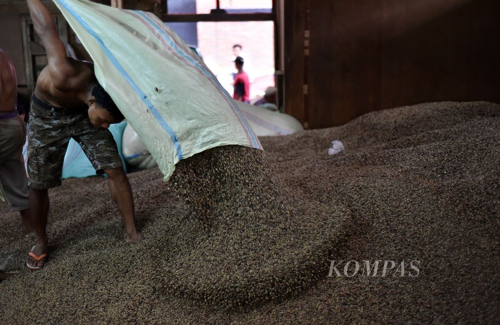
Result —
[[54, 18], [40, 0], [27, 0], [34, 30], [41, 39], [47, 53], [50, 76], [54, 86], [63, 89], [74, 73], [67, 58], [64, 43], [59, 38]]

